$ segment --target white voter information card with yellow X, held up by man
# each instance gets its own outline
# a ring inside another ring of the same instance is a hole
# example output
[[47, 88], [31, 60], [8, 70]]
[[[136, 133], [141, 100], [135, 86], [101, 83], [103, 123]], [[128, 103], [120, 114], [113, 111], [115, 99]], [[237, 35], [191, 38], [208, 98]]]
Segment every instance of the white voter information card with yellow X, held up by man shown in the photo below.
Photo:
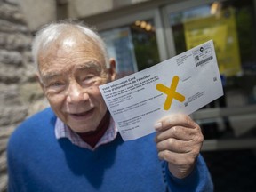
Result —
[[169, 60], [100, 85], [123, 140], [155, 132], [154, 124], [172, 113], [191, 114], [223, 95], [211, 41]]

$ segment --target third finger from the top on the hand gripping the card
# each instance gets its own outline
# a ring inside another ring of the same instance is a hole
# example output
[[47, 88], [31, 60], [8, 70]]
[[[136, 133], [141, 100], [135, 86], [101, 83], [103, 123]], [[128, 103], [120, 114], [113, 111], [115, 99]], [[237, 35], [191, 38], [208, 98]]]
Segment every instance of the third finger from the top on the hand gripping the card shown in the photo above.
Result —
[[193, 150], [194, 145], [189, 141], [170, 138], [168, 140], [158, 142], [156, 144], [156, 148], [159, 152], [169, 150], [175, 153], [188, 153]]

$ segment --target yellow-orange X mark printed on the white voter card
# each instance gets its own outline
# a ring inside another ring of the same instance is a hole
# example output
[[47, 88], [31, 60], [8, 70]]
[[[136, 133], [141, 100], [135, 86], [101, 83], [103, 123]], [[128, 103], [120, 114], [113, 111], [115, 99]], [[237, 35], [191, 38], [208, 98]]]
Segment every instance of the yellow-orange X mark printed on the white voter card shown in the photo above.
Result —
[[166, 87], [164, 84], [156, 84], [156, 89], [160, 92], [164, 92], [167, 95], [164, 103], [165, 110], [169, 110], [169, 108], [171, 108], [173, 99], [179, 100], [180, 102], [183, 102], [185, 100], [185, 97], [182, 94], [176, 92], [178, 82], [179, 76], [173, 76], [170, 88]]

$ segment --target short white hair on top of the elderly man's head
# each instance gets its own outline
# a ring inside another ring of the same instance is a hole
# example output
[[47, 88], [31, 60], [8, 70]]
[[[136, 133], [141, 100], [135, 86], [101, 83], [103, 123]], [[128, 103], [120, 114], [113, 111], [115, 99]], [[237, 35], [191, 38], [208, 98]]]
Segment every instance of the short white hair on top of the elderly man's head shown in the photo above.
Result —
[[[106, 68], [109, 68], [106, 44], [101, 39], [100, 35], [92, 28], [89, 28], [84, 24], [62, 21], [60, 23], [52, 23], [46, 25], [44, 26], [44, 28], [36, 32], [36, 36], [32, 43], [32, 57], [36, 65], [36, 70], [38, 71], [39, 69], [39, 54], [47, 50], [48, 46], [57, 41], [60, 38], [60, 36], [68, 34], [68, 32], [70, 32], [71, 30], [76, 31], [78, 33], [80, 32], [82, 35], [84, 35], [84, 37], [89, 37], [90, 40], [97, 44], [100, 48], [100, 51], [103, 54]], [[74, 35], [76, 36], [76, 34]]]

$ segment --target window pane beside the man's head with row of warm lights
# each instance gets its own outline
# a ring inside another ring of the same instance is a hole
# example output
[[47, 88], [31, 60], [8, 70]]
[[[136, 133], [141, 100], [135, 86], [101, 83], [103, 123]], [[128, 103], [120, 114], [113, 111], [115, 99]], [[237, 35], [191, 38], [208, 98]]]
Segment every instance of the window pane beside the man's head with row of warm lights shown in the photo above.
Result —
[[160, 62], [153, 20], [135, 20], [129, 26], [100, 32], [110, 57], [116, 58], [117, 77]]

